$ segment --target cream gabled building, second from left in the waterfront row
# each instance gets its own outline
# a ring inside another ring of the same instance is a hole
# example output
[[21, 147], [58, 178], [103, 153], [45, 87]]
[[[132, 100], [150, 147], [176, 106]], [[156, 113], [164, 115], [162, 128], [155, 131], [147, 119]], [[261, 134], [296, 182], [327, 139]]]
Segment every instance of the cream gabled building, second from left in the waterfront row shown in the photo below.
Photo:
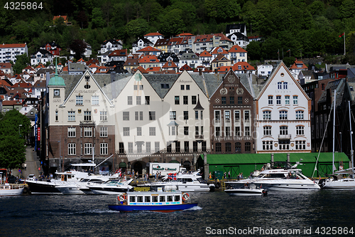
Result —
[[145, 164], [139, 162], [141, 158], [159, 154], [165, 148], [161, 126], [168, 111], [161, 109], [159, 95], [139, 70], [124, 84], [115, 101], [119, 102], [115, 112], [116, 151], [119, 159], [128, 159], [133, 169], [138, 170], [135, 166]]

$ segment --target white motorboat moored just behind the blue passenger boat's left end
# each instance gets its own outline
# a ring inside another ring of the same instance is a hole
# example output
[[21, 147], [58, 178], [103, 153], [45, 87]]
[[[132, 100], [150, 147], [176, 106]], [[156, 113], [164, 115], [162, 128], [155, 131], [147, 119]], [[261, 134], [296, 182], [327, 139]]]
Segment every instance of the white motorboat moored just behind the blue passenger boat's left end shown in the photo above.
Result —
[[[94, 194], [124, 194], [127, 191], [133, 189], [133, 186], [129, 185], [133, 179], [121, 181], [119, 179], [110, 179], [104, 184], [92, 184], [87, 186]], [[84, 191], [84, 190], [82, 190]]]

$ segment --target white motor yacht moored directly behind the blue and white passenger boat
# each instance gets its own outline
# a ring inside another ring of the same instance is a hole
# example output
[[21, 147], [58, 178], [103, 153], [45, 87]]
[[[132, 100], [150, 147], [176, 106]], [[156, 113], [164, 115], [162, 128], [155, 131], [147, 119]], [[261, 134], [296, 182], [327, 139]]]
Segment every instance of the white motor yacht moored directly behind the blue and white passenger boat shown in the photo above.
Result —
[[205, 192], [213, 189], [214, 186], [209, 186], [207, 181], [204, 181], [199, 173], [200, 170], [197, 170], [192, 174], [177, 174], [174, 177], [164, 177], [165, 181], [140, 184], [138, 186], [150, 186], [155, 191], [158, 191], [158, 188], [163, 188], [164, 191], [179, 190], [183, 192]]

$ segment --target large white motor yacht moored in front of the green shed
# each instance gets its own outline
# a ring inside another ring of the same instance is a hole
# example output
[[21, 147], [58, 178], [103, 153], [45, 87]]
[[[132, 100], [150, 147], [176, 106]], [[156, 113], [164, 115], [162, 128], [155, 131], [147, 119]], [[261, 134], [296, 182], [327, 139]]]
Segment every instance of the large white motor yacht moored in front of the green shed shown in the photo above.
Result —
[[[263, 172], [261, 172], [263, 174]], [[277, 174], [277, 173], [274, 173]], [[295, 191], [295, 190], [317, 190], [320, 186], [305, 177], [302, 174], [301, 169], [285, 169], [280, 170], [279, 174], [287, 174], [287, 176], [282, 179], [258, 179], [254, 181], [253, 184], [256, 186], [262, 186], [263, 189], [268, 190], [285, 190], [285, 191]]]

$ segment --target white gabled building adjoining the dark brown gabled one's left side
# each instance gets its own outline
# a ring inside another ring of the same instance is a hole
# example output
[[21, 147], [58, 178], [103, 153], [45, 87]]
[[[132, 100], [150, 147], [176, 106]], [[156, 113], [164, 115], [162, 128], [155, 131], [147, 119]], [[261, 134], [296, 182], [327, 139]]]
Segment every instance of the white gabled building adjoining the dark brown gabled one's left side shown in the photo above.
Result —
[[[175, 151], [206, 152], [209, 139], [209, 99], [192, 76], [183, 71], [164, 97], [170, 105], [167, 147]], [[170, 131], [176, 125], [176, 136]]]

